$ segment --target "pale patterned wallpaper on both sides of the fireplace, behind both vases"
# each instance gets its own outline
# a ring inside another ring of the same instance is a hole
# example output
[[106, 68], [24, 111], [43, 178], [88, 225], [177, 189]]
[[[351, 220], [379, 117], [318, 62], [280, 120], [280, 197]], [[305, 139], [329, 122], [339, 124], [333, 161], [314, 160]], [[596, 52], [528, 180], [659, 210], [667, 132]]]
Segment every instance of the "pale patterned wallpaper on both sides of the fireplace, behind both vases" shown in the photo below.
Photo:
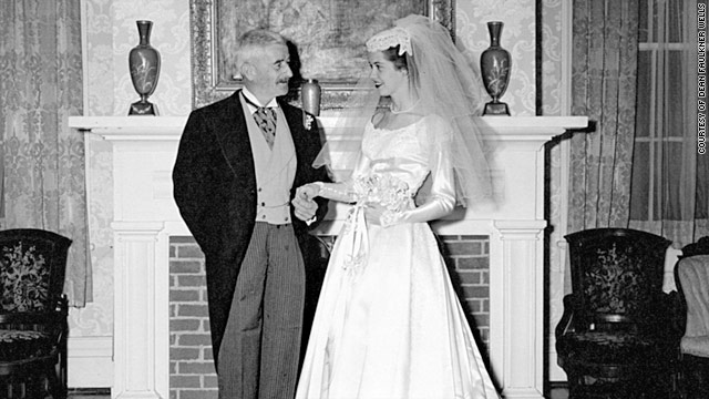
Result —
[[[559, 112], [559, 20], [562, 0], [544, 0], [545, 114]], [[127, 69], [127, 53], [137, 44], [138, 19], [152, 20], [151, 43], [162, 57], [157, 89], [150, 101], [161, 115], [186, 115], [191, 110], [189, 0], [83, 0], [85, 28], [86, 115], [126, 115], [137, 100]], [[549, 19], [547, 21], [547, 17]], [[512, 78], [502, 101], [513, 115], [535, 115], [535, 1], [459, 0], [458, 45], [472, 59], [490, 45], [486, 22], [504, 22], [501, 45], [513, 59]], [[548, 48], [546, 47], [548, 43]], [[113, 217], [111, 147], [92, 137], [88, 141], [90, 180], [90, 227], [94, 301], [72, 309], [72, 336], [111, 336], [113, 330]]]

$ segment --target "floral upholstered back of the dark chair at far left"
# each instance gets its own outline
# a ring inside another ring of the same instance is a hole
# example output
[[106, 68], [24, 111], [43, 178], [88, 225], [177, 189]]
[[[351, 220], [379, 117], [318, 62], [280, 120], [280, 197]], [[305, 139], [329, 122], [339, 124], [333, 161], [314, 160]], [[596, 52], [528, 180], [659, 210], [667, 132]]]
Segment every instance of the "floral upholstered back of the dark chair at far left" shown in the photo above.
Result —
[[70, 245], [43, 229], [0, 231], [0, 313], [52, 310], [62, 295]]

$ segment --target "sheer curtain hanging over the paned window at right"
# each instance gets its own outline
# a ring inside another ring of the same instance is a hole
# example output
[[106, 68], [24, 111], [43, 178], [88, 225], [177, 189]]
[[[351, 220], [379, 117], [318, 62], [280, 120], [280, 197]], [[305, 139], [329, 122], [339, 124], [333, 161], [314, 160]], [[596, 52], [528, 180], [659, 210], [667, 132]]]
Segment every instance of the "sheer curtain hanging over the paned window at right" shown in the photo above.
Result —
[[676, 247], [709, 234], [709, 156], [697, 153], [696, 8], [695, 0], [656, 0], [640, 12], [648, 66], [639, 76], [630, 226]]

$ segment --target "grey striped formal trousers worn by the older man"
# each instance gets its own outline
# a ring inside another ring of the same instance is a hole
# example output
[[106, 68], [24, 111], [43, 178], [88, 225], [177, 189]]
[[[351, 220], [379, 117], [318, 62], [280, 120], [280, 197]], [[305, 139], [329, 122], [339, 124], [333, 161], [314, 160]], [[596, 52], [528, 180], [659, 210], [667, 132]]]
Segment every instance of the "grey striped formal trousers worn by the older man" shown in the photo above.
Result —
[[257, 222], [219, 348], [219, 399], [295, 396], [304, 297], [305, 266], [292, 225]]

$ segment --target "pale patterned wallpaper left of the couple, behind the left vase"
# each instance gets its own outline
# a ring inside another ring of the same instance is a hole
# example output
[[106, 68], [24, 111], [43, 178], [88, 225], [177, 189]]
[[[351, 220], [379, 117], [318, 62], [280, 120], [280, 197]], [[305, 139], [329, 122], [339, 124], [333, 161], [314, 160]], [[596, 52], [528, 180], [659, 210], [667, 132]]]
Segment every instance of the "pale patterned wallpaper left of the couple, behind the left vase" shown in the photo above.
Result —
[[[129, 73], [127, 54], [138, 43], [136, 20], [153, 21], [151, 44], [161, 53], [157, 89], [148, 101], [161, 115], [186, 115], [192, 108], [189, 0], [83, 0], [85, 30], [85, 101], [91, 116], [127, 115], [138, 100]], [[71, 336], [113, 335], [113, 163], [111, 144], [88, 141], [89, 218], [94, 300], [72, 309]]]

